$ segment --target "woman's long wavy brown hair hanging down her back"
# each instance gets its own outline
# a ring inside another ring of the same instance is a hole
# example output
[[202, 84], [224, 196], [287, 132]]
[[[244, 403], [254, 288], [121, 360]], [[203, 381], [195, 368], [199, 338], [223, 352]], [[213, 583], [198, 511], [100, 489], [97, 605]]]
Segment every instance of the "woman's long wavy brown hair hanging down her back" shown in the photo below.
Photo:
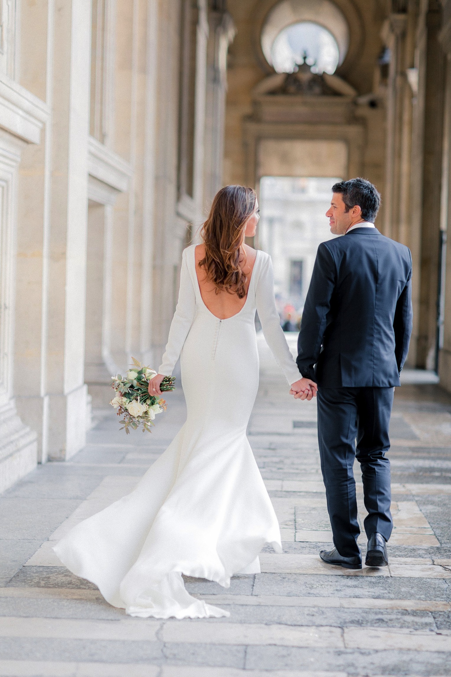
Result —
[[212, 209], [201, 230], [205, 256], [199, 266], [206, 271], [216, 293], [225, 290], [246, 295], [247, 276], [240, 267], [245, 222], [254, 212], [256, 192], [243, 185], [226, 185], [214, 196]]

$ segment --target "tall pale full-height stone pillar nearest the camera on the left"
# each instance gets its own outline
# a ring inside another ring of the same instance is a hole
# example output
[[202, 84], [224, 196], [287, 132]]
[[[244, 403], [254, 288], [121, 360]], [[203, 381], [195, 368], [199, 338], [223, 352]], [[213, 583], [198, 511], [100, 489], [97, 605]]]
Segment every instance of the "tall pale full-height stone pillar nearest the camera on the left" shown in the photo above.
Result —
[[70, 458], [87, 425], [85, 286], [90, 0], [55, 0], [47, 391], [49, 458]]

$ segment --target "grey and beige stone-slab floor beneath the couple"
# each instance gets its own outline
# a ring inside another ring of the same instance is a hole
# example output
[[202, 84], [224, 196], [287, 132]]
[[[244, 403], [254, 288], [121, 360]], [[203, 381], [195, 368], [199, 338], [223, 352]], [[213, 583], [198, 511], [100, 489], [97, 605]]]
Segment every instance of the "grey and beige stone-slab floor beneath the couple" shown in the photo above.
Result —
[[[179, 429], [168, 396], [151, 437], [102, 416], [70, 462], [40, 466], [0, 497], [0, 675], [346, 677], [451, 674], [451, 397], [396, 391], [391, 421], [394, 533], [385, 569], [329, 567], [315, 402], [287, 395], [260, 342], [262, 378], [249, 439], [281, 523], [283, 554], [224, 590], [187, 579], [227, 619], [133, 619], [55, 559], [71, 525], [123, 496]], [[356, 468], [358, 475], [358, 468]], [[362, 492], [359, 510], [364, 517]], [[365, 549], [362, 538], [362, 550]]]

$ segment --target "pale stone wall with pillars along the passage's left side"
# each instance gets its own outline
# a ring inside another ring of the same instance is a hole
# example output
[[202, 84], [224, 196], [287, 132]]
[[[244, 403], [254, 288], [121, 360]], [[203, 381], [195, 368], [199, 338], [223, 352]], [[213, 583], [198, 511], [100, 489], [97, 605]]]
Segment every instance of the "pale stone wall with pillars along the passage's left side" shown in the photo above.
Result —
[[158, 367], [181, 251], [222, 182], [234, 35], [206, 0], [6, 5], [0, 491], [85, 444], [132, 356]]

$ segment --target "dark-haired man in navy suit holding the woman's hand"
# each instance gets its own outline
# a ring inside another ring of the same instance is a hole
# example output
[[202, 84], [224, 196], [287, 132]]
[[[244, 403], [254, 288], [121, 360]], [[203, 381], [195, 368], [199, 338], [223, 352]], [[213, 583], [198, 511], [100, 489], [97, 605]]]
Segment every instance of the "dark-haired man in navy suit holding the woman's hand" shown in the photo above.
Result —
[[374, 225], [381, 198], [364, 179], [332, 188], [331, 232], [344, 237], [318, 247], [298, 339], [304, 378], [291, 394], [306, 397], [318, 384], [318, 442], [327, 510], [335, 548], [321, 559], [362, 568], [357, 545], [354, 458], [362, 468], [368, 515], [365, 564], [388, 564], [390, 513], [388, 436], [394, 386], [408, 353], [412, 331], [410, 250], [381, 235]]

